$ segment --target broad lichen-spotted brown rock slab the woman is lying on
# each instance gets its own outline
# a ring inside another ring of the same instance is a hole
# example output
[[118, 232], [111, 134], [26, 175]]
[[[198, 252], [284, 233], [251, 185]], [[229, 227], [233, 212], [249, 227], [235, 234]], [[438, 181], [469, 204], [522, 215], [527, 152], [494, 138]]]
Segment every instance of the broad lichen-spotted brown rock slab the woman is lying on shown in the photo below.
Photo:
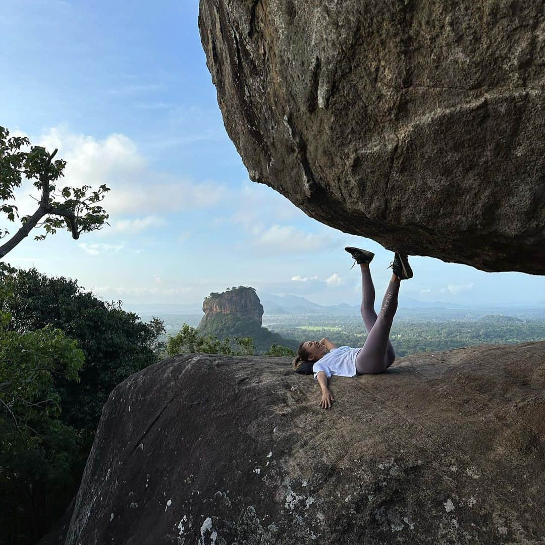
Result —
[[543, 543], [544, 349], [333, 377], [327, 410], [287, 359], [161, 361], [111, 393], [71, 520], [42, 543]]

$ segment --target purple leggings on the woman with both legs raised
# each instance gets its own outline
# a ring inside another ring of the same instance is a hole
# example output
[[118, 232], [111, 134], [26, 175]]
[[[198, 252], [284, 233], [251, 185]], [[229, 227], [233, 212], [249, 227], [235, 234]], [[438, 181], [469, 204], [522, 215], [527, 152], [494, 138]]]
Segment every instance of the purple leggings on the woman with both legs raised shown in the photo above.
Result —
[[361, 269], [361, 282], [363, 297], [360, 310], [368, 335], [364, 346], [356, 356], [356, 372], [358, 374], [381, 373], [396, 359], [396, 353], [388, 337], [393, 315], [397, 310], [399, 282], [389, 283], [378, 316], [374, 311], [375, 292], [369, 268]]

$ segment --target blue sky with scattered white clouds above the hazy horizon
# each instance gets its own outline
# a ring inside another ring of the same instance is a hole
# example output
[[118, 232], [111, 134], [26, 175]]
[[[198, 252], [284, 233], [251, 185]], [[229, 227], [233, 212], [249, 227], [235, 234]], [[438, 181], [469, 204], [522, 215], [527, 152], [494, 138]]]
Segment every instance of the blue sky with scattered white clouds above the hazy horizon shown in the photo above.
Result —
[[[78, 241], [29, 237], [6, 261], [128, 303], [193, 305], [244, 285], [355, 304], [359, 272], [343, 250], [353, 245], [376, 253], [379, 295], [391, 252], [249, 180], [223, 127], [197, 16], [198, 2], [186, 0], [19, 0], [3, 10], [0, 125], [58, 147], [66, 184], [112, 188], [111, 227]], [[18, 195], [22, 213], [34, 209], [31, 193]], [[542, 277], [420, 256], [411, 264], [402, 293], [422, 301], [545, 302]]]

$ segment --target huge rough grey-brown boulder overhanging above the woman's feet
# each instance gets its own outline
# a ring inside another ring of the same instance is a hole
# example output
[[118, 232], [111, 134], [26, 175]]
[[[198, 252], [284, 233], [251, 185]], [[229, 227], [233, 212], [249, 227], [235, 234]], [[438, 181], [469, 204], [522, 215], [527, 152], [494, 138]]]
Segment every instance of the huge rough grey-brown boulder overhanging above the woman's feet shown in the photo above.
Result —
[[250, 178], [411, 255], [545, 274], [542, 0], [201, 0]]

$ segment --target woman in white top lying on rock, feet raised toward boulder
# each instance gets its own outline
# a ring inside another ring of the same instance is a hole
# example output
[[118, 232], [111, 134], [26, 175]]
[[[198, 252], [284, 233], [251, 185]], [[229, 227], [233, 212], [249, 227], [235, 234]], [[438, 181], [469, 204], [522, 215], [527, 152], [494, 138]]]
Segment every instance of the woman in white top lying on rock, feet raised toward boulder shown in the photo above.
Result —
[[[349, 346], [336, 347], [331, 341], [323, 338], [318, 341], [305, 341], [299, 345], [298, 355], [293, 360], [293, 368], [302, 374], [314, 373], [322, 388], [320, 406], [331, 407], [335, 399], [328, 389], [328, 378], [332, 375], [355, 377], [359, 374], [381, 373], [392, 365], [396, 359], [392, 344], [388, 337], [392, 327], [393, 315], [397, 310], [397, 294], [401, 280], [413, 276], [407, 255], [396, 253], [390, 264], [393, 274], [377, 316], [374, 311], [374, 286], [369, 264], [374, 253], [360, 250], [352, 246], [345, 248], [352, 254], [361, 268], [363, 296], [361, 301], [361, 317], [364, 319], [368, 335], [361, 348]], [[355, 264], [354, 263], [354, 264]], [[354, 267], [354, 265], [352, 265]], [[390, 268], [389, 267], [389, 268]]]

